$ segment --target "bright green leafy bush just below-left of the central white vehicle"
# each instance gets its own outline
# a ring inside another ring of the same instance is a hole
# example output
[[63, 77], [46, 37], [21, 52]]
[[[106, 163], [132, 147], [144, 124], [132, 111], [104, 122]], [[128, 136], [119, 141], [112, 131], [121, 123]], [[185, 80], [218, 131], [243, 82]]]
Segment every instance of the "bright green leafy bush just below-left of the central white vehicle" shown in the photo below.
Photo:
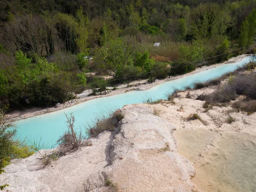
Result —
[[152, 66], [155, 64], [153, 58], [149, 58], [149, 54], [145, 51], [143, 54], [137, 52], [134, 65], [140, 67], [143, 71], [149, 72]]

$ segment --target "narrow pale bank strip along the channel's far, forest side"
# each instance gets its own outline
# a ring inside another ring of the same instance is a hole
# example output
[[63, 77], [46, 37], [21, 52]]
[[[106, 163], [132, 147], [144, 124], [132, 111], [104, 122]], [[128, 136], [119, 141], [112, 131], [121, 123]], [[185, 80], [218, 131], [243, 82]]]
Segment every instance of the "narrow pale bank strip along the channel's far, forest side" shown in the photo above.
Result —
[[121, 87], [120, 89], [113, 90], [112, 92], [110, 92], [107, 95], [88, 96], [88, 94], [85, 95], [85, 94], [81, 93], [81, 94], [78, 95], [79, 97], [81, 97], [80, 99], [70, 100], [68, 102], [65, 102], [63, 104], [58, 105], [58, 107], [31, 108], [31, 109], [26, 109], [24, 111], [13, 111], [13, 112], [9, 113], [7, 116], [11, 119], [11, 121], [18, 121], [20, 119], [26, 119], [26, 118], [29, 118], [29, 117], [32, 117], [32, 116], [38, 116], [38, 115], [41, 115], [41, 114], [51, 113], [51, 112], [58, 111], [58, 110], [61, 110], [61, 109], [64, 109], [64, 108], [68, 108], [68, 107], [71, 107], [73, 105], [77, 105], [81, 102], [88, 101], [90, 99], [95, 99], [95, 98], [100, 98], [100, 97], [105, 97], [105, 96], [113, 96], [113, 95], [117, 95], [117, 94], [121, 94], [121, 93], [126, 93], [126, 92], [129, 92], [129, 91], [132, 91], [132, 90], [148, 90], [148, 89], [150, 89], [150, 88], [152, 88], [152, 87], [154, 87], [158, 84], [164, 83], [166, 81], [172, 81], [172, 80], [175, 80], [175, 79], [180, 79], [182, 77], [189, 76], [189, 75], [192, 75], [192, 74], [195, 74], [195, 73], [199, 73], [199, 72], [204, 71], [204, 70], [209, 70], [211, 68], [214, 68], [214, 67], [217, 67], [217, 66], [220, 66], [220, 65], [241, 61], [241, 59], [243, 59], [245, 56], [247, 56], [247, 55], [239, 55], [237, 57], [230, 58], [229, 61], [226, 61], [224, 63], [215, 64], [215, 65], [211, 65], [211, 66], [204, 66], [204, 67], [201, 67], [201, 68], [197, 68], [193, 72], [190, 72], [190, 73], [187, 73], [187, 74], [184, 74], [184, 75], [181, 75], [181, 76], [171, 77], [171, 78], [168, 78], [168, 79], [156, 80], [155, 82], [150, 83], [150, 84], [138, 84], [139, 83], [138, 81], [134, 81], [134, 82], [129, 83], [129, 85], [130, 86], [133, 85], [133, 87], [130, 87], [130, 86], [125, 87], [125, 84], [122, 84], [122, 85], [119, 85], [119, 87]]

